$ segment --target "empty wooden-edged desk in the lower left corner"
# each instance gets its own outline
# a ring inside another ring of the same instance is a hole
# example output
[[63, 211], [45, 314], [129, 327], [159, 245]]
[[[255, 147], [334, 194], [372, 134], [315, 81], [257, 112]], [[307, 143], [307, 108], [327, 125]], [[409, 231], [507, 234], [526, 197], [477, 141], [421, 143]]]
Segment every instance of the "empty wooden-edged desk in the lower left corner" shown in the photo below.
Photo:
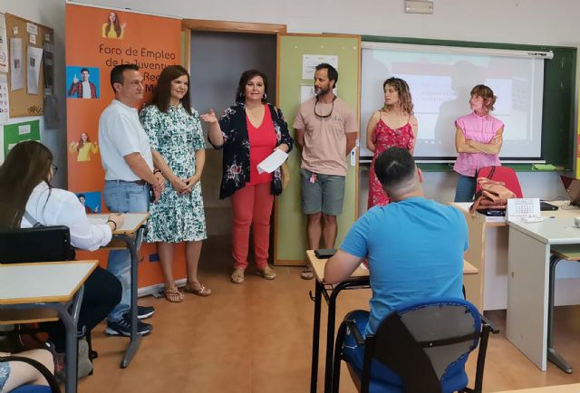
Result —
[[0, 265], [0, 322], [54, 321], [54, 310], [66, 330], [65, 391], [77, 390], [77, 322], [83, 283], [97, 261]]

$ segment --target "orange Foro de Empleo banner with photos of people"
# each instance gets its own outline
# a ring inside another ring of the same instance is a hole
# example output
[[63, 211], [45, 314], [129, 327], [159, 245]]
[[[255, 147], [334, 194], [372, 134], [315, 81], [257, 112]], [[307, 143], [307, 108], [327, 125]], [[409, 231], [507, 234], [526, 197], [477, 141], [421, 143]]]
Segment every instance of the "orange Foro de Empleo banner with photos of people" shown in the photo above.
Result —
[[[107, 212], [102, 189], [99, 117], [114, 98], [111, 69], [137, 64], [150, 101], [163, 68], [180, 63], [181, 20], [90, 5], [66, 5], [66, 115], [68, 188], [87, 212]], [[183, 253], [176, 253], [182, 255]], [[107, 262], [107, 253], [81, 252], [79, 258]], [[162, 283], [154, 244], [142, 244], [139, 286]], [[176, 277], [185, 277], [185, 264]]]

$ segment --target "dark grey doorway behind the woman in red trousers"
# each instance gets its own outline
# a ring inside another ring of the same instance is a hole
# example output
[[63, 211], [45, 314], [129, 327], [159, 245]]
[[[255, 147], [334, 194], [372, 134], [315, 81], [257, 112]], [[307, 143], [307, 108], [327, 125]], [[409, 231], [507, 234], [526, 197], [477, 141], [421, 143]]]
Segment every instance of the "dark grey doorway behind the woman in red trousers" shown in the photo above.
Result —
[[[213, 109], [219, 116], [235, 102], [242, 72], [256, 69], [266, 74], [269, 101], [276, 96], [276, 35], [229, 31], [191, 30], [191, 102], [199, 113]], [[208, 125], [203, 124], [205, 134]], [[208, 235], [231, 235], [231, 203], [219, 199], [222, 152], [208, 146], [202, 184]]]

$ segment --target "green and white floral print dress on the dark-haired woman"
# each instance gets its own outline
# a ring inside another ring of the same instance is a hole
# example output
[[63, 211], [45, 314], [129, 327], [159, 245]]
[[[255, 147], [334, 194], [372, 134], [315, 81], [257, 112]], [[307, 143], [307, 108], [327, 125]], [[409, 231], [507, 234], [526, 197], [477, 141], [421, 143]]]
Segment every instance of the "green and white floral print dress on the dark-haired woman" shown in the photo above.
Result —
[[[180, 103], [177, 107], [169, 106], [167, 113], [150, 105], [141, 110], [140, 121], [149, 136], [151, 149], [165, 158], [173, 173], [181, 179], [192, 177], [196, 170], [196, 150], [205, 149], [198, 112], [192, 110], [189, 115]], [[208, 237], [201, 182], [191, 193], [180, 196], [168, 181], [160, 200], [150, 205], [150, 215], [146, 242], [179, 243]]]

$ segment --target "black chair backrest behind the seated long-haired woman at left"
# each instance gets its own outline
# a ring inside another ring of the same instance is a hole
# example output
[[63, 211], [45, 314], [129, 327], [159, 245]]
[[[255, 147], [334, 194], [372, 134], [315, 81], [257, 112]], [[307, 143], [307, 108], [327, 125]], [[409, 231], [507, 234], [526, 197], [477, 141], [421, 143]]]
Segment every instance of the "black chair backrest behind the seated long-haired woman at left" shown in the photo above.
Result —
[[0, 230], [0, 264], [74, 259], [68, 226]]

